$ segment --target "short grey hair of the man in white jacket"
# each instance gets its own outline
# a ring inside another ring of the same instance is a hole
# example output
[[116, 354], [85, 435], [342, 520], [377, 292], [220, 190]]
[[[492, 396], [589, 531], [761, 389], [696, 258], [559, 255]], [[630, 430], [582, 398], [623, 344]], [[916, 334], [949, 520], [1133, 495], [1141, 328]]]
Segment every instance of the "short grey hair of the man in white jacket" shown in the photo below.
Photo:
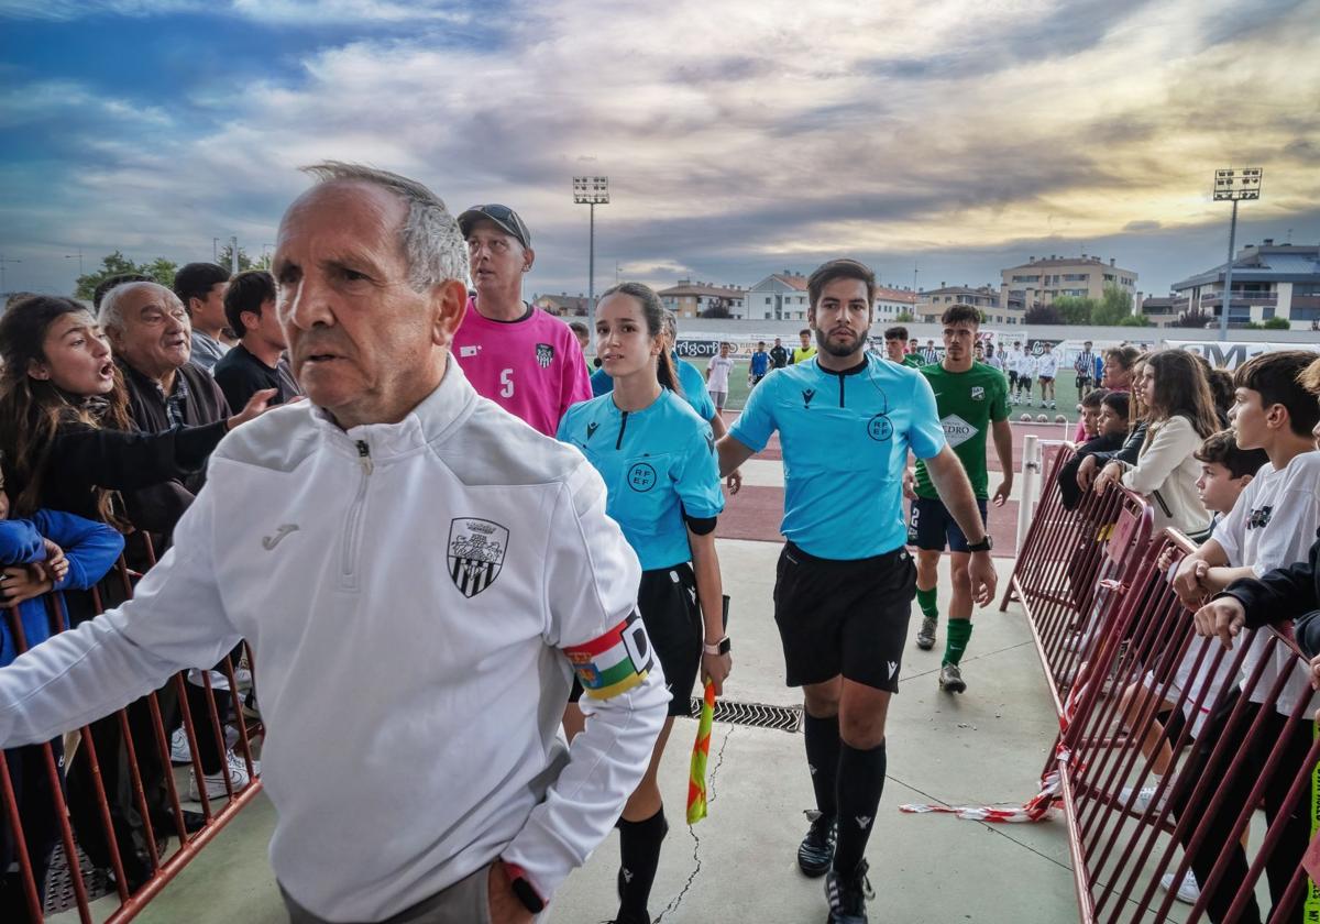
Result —
[[374, 183], [408, 205], [399, 243], [408, 265], [408, 285], [416, 292], [425, 292], [449, 280], [467, 284], [467, 243], [458, 230], [458, 222], [441, 198], [420, 182], [388, 170], [343, 161], [323, 161], [301, 170], [322, 183], [333, 180]]

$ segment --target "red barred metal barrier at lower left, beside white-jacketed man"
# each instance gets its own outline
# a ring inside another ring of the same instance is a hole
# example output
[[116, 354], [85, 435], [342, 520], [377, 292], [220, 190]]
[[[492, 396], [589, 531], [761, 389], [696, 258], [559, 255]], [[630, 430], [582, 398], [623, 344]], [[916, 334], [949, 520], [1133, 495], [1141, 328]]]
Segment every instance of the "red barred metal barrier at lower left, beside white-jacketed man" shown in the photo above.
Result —
[[[123, 560], [120, 560], [116, 572], [116, 574], [107, 577], [107, 581], [117, 582], [117, 587], [123, 591], [120, 595], [131, 597], [132, 573], [124, 565]], [[110, 587], [112, 585], [103, 582], [102, 586]], [[92, 591], [92, 594], [96, 611], [102, 611], [99, 593]], [[67, 614], [59, 606], [59, 597], [48, 595], [44, 601], [50, 618], [51, 634], [63, 631], [67, 627]], [[16, 651], [26, 651], [26, 639], [24, 638], [22, 622], [17, 609], [7, 610], [4, 618], [16, 642]], [[249, 651], [246, 651], [246, 657], [251, 665]], [[230, 721], [238, 733], [238, 741], [232, 750], [244, 759], [249, 776], [248, 785], [238, 792], [235, 792], [235, 787], [228, 776], [227, 751], [230, 748], [224, 737], [226, 722], [222, 721], [211, 672], [207, 671], [201, 672], [201, 686], [190, 681], [183, 673], [176, 675], [164, 688], [149, 693], [136, 704], [129, 704], [114, 717], [100, 719], [92, 723], [92, 726], [81, 729], [75, 747], [78, 751], [77, 760], [84, 772], [78, 777], [77, 792], [74, 784], [70, 783], [69, 800], [65, 797], [65, 775], [61, 772], [59, 762], [55, 758], [55, 747], [62, 747], [61, 742], [33, 746], [34, 750], [30, 751], [32, 754], [41, 755], [40, 760], [44, 766], [50, 792], [49, 804], [33, 803], [30, 784], [24, 785], [28, 796], [17, 792], [13, 784], [8, 759], [11, 755], [16, 755], [18, 751], [29, 751], [29, 748], [5, 751], [5, 759], [0, 759], [0, 822], [7, 825], [15, 841], [13, 853], [18, 865], [18, 883], [28, 920], [42, 920], [48, 908], [46, 895], [41, 894], [46, 890], [38, 888], [37, 875], [40, 874], [37, 870], [45, 866], [49, 857], [33, 855], [29, 846], [44, 851], [45, 845], [28, 843], [21, 822], [22, 817], [32, 813], [49, 812], [55, 818], [58, 824], [58, 842], [63, 847], [63, 858], [69, 867], [67, 874], [74, 892], [73, 907], [77, 908], [79, 920], [83, 924], [92, 921], [91, 903], [98, 896], [90, 895], [84, 886], [78, 850], [81, 845], [75, 832], [81, 832], [83, 837], [103, 841], [103, 843], [98, 845], [96, 853], [104, 854], [104, 866], [114, 876], [117, 892], [117, 908], [98, 906], [96, 919], [104, 920], [107, 924], [119, 924], [136, 916], [244, 805], [256, 797], [261, 789], [261, 783], [257, 774], [259, 763], [253, 759], [252, 743], [260, 738], [263, 729], [259, 721], [252, 722], [244, 718], [240, 688], [232, 659], [226, 657], [218, 665], [218, 669], [228, 685], [230, 700], [232, 701], [234, 715]], [[191, 693], [189, 690], [190, 686], [193, 688]], [[189, 705], [190, 698], [194, 702], [202, 701], [205, 705], [203, 714], [193, 714]], [[164, 706], [162, 700], [168, 700], [168, 704]], [[176, 710], [178, 713], [177, 719], [174, 718]], [[191, 756], [191, 763], [186, 770], [176, 770], [170, 763], [170, 733], [180, 725], [187, 738]], [[223, 805], [219, 807], [213, 804], [218, 800], [209, 799], [206, 792], [207, 787], [203, 779], [201, 756], [202, 748], [199, 747], [199, 735], [203, 734], [210, 737], [210, 743], [215, 752], [220, 755], [220, 776], [224, 784], [224, 797]], [[121, 747], [121, 755], [98, 754], [98, 738], [103, 744], [107, 742], [115, 744], [116, 750]], [[106, 760], [111, 760], [116, 774], [127, 768], [129, 784], [127, 787], [129, 792], [127, 801], [123, 799], [123, 779], [120, 779], [120, 785], [116, 787], [117, 795], [107, 792]], [[66, 755], [65, 770], [71, 770], [73, 764], [74, 759]], [[185, 804], [180, 796], [180, 785], [186, 785], [190, 781], [189, 777], [195, 784], [199, 796], [197, 800], [197, 813], [205, 820], [201, 824], [191, 825], [191, 830], [189, 830], [189, 822], [193, 818], [185, 814]], [[160, 784], [158, 787], [156, 785], [157, 783]], [[150, 793], [148, 792], [149, 785], [153, 789]], [[164, 800], [160, 787], [164, 787]], [[77, 813], [71, 814], [70, 801], [75, 796], [78, 796], [84, 807], [95, 805], [95, 809], [83, 812], [81, 816]], [[141, 825], [141, 841], [147, 855], [145, 858], [137, 858], [135, 863], [141, 863], [141, 859], [145, 859], [145, 875], [139, 874], [135, 876], [125, 865], [125, 857], [129, 853], [139, 851], [139, 847], [132, 842], [125, 843], [123, 838], [125, 828], [123, 818], [131, 814], [135, 814]], [[116, 821], [116, 817], [119, 821]], [[170, 824], [166, 826], [173, 830], [168, 833], [157, 830], [153, 817], [157, 822], [162, 817], [168, 817]], [[88, 818], [91, 818], [91, 822]], [[177, 840], [177, 846], [173, 850], [168, 849], [169, 838]], [[46, 879], [49, 883], [49, 876]], [[132, 888], [129, 888], [131, 883]], [[110, 912], [108, 916], [107, 912]], [[18, 920], [22, 920], [22, 917]], [[9, 924], [8, 917], [5, 919], [5, 924]]]

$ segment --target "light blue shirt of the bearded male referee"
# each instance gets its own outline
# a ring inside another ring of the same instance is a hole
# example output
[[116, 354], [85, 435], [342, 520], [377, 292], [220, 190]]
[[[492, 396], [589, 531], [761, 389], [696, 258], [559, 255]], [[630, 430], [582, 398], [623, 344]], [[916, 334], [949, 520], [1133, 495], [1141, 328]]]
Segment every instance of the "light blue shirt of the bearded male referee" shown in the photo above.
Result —
[[841, 561], [907, 541], [908, 449], [928, 459], [945, 445], [925, 376], [873, 355], [843, 372], [821, 368], [817, 358], [775, 370], [729, 433], [760, 451], [775, 430], [784, 450], [784, 536]]

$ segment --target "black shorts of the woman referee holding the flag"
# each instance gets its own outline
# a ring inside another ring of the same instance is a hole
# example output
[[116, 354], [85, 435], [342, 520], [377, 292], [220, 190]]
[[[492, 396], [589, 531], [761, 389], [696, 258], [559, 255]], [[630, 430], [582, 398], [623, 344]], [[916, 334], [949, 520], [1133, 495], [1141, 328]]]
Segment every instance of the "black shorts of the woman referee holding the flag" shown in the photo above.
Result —
[[[672, 697], [669, 714], [692, 715], [692, 690], [697, 685], [705, 635], [697, 605], [697, 576], [692, 573], [692, 565], [682, 562], [642, 572], [638, 612], [664, 669], [665, 686]], [[574, 676], [569, 702], [581, 697], [582, 684]]]

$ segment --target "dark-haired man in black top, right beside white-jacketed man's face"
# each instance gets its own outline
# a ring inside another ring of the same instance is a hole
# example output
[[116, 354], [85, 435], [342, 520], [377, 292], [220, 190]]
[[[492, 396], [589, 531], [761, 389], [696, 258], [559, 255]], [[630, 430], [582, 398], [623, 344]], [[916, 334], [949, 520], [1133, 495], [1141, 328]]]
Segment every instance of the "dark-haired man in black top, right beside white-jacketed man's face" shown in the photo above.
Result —
[[224, 293], [224, 317], [239, 342], [215, 364], [211, 374], [231, 408], [242, 408], [253, 395], [275, 389], [271, 404], [297, 397], [284, 359], [288, 345], [275, 310], [275, 277], [264, 269], [239, 273]]

